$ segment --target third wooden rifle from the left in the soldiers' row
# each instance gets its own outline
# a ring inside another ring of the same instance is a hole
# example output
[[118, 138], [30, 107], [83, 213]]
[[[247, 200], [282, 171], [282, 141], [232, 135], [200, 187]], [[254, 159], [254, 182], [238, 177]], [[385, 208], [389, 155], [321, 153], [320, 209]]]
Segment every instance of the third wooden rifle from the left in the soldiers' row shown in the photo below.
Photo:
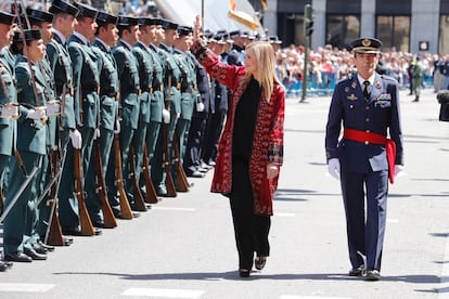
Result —
[[103, 221], [105, 229], [117, 226], [114, 212], [111, 208], [106, 194], [106, 183], [104, 182], [103, 165], [101, 160], [100, 140], [93, 141], [93, 162], [95, 167], [95, 192], [101, 200], [101, 211], [103, 212]]

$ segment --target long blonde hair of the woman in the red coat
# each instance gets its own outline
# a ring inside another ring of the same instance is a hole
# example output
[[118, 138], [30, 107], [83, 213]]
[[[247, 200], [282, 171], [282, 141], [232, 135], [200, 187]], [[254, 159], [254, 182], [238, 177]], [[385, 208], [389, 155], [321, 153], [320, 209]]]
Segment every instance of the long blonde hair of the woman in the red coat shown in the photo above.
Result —
[[[282, 86], [278, 78], [278, 74], [275, 73], [274, 50], [267, 41], [253, 41], [246, 46], [245, 51], [253, 51], [254, 56], [256, 57], [257, 69], [254, 77], [262, 87], [262, 98], [265, 98], [267, 102], [270, 102], [274, 83]], [[252, 76], [253, 74], [246, 73], [243, 80], [248, 82]]]

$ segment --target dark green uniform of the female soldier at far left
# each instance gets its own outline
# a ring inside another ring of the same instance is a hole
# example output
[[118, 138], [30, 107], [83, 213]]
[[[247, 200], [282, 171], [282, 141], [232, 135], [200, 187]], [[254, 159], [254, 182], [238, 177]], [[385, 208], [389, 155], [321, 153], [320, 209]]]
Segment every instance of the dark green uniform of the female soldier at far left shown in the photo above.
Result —
[[[39, 185], [42, 176], [42, 157], [47, 154], [47, 123], [44, 120], [34, 120], [27, 118], [31, 109], [38, 109], [46, 104], [46, 78], [37, 64], [31, 65], [34, 78], [28, 67], [25, 56], [18, 56], [15, 67], [17, 79], [17, 101], [21, 104], [21, 117], [17, 119], [17, 150], [23, 160], [23, 167], [30, 173], [36, 167], [38, 171], [31, 178], [30, 183], [21, 194], [13, 209], [4, 220], [3, 225], [3, 247], [5, 255], [14, 255], [23, 251], [26, 233], [26, 221], [28, 219], [28, 205], [35, 207], [36, 199], [39, 197]], [[35, 84], [33, 84], [33, 81]], [[36, 93], [35, 93], [36, 87]], [[38, 98], [35, 96], [37, 94]], [[18, 192], [26, 177], [16, 157], [11, 159], [10, 183], [7, 191], [5, 205]], [[29, 237], [29, 236], [28, 236]]]

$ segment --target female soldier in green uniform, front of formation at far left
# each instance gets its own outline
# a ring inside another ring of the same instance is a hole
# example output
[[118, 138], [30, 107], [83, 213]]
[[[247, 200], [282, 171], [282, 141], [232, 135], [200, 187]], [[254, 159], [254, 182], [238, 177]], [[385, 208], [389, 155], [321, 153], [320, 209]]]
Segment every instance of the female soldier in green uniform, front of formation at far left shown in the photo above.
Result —
[[17, 119], [17, 134], [21, 138], [17, 140], [17, 151], [10, 164], [11, 173], [5, 206], [11, 204], [27, 177], [33, 177], [4, 220], [4, 259], [7, 261], [30, 262], [33, 259], [44, 260], [47, 258], [47, 256], [36, 252], [33, 247], [24, 246], [26, 243], [25, 225], [29, 219], [28, 212], [30, 208], [35, 207], [39, 197], [41, 160], [47, 150], [44, 77], [37, 65], [39, 61], [43, 60], [46, 53], [40, 30], [16, 31], [10, 51], [17, 55], [15, 76], [21, 114]]

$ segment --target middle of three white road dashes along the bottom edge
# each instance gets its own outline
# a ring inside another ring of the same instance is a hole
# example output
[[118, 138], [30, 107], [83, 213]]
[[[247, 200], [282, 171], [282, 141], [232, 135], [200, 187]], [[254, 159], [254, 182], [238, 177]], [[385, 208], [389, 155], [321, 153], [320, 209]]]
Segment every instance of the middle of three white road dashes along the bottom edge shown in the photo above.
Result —
[[125, 290], [121, 296], [140, 296], [156, 298], [200, 298], [204, 290], [194, 289], [170, 289], [170, 288], [139, 288], [131, 287]]

